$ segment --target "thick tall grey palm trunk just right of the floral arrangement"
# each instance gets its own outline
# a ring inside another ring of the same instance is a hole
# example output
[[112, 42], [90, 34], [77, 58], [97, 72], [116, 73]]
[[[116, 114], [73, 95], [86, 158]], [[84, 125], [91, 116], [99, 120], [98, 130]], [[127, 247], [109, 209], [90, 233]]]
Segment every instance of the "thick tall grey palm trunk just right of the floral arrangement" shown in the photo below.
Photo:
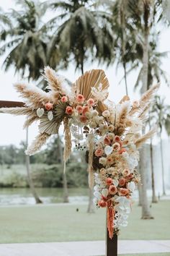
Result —
[[[148, 20], [145, 23], [145, 34], [144, 34], [144, 43], [143, 43], [143, 87], [142, 92], [146, 92], [148, 89]], [[143, 133], [145, 129], [143, 129]], [[151, 211], [148, 205], [147, 197], [147, 176], [146, 176], [146, 159], [148, 155], [146, 154], [145, 145], [140, 150], [140, 177], [141, 177], [141, 195], [142, 195], [142, 216], [143, 219], [153, 218], [151, 216]]]

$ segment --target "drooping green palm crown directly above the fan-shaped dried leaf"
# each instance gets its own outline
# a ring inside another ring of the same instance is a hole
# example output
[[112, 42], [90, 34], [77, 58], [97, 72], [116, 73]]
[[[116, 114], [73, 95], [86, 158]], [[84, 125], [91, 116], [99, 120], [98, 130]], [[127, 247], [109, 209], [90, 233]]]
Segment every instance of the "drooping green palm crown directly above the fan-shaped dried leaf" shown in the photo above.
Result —
[[102, 60], [113, 54], [108, 47], [113, 35], [107, 22], [112, 17], [90, 4], [90, 0], [53, 1], [49, 7], [59, 14], [46, 25], [53, 28], [48, 54], [57, 46], [62, 58], [72, 57], [82, 74], [89, 55]]

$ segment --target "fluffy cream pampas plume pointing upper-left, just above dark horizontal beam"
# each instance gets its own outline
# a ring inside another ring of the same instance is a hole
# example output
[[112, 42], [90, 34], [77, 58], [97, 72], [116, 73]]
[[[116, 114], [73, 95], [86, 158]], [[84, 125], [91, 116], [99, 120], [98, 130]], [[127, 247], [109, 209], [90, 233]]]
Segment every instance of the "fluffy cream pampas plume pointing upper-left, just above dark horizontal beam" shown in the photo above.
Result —
[[22, 98], [26, 99], [26, 104], [30, 108], [42, 108], [45, 103], [52, 102], [53, 98], [50, 93], [45, 93], [40, 88], [32, 85], [25, 85], [24, 83], [17, 83], [14, 85], [17, 92]]

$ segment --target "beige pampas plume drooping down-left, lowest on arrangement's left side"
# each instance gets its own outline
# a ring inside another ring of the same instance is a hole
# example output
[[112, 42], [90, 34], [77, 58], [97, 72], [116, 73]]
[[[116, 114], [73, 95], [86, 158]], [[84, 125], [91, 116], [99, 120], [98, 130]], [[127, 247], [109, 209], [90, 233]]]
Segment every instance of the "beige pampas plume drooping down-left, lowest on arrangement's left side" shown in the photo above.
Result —
[[32, 144], [27, 148], [27, 150], [25, 150], [26, 155], [34, 155], [38, 150], [40, 150], [42, 145], [45, 144], [48, 137], [50, 137], [50, 135], [48, 135], [47, 133], [37, 135], [37, 137], [35, 137], [35, 140], [33, 140]]

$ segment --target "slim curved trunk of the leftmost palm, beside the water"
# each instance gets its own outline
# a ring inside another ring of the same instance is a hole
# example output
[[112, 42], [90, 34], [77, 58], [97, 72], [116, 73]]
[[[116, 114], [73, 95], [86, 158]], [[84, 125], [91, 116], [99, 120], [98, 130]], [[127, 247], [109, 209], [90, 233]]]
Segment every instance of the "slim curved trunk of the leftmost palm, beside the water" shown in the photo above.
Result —
[[[28, 145], [28, 128], [26, 130], [26, 145]], [[31, 171], [30, 171], [30, 155], [26, 155], [26, 169], [27, 169], [27, 179], [28, 179], [28, 184], [30, 186], [30, 190], [32, 192], [33, 197], [35, 197], [35, 202], [36, 203], [42, 203], [42, 200], [37, 195], [37, 192], [35, 191], [35, 186], [32, 181], [32, 176], [31, 176]]]

